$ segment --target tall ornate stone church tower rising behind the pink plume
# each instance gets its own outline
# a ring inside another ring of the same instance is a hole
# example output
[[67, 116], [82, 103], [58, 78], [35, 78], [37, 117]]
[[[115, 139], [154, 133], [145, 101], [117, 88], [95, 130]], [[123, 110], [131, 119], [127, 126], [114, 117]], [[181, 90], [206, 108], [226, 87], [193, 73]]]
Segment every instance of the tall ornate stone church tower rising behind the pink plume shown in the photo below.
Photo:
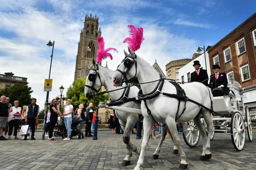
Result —
[[[80, 33], [80, 40], [78, 42], [78, 51], [76, 55], [76, 70], [75, 78], [76, 81], [78, 78], [83, 78], [87, 76], [89, 68], [92, 65], [92, 59], [97, 58], [97, 51], [99, 45], [97, 42], [97, 37], [101, 36], [101, 30], [99, 26], [99, 18], [92, 17], [86, 14], [84, 19], [84, 28]], [[99, 63], [101, 65], [101, 63]]]

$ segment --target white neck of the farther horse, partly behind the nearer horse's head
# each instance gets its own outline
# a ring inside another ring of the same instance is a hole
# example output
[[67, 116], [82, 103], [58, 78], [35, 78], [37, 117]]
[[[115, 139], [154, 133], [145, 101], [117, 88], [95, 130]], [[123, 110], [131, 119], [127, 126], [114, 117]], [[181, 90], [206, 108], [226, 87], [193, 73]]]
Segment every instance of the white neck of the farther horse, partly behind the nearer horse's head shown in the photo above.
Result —
[[[100, 80], [102, 82], [102, 86], [105, 87], [106, 91], [111, 91], [111, 90], [116, 90], [116, 89], [122, 88], [122, 87], [114, 87], [113, 83], [111, 82], [114, 71], [112, 71], [108, 68], [105, 68], [103, 66], [99, 66], [99, 74], [100, 74]], [[116, 99], [120, 98], [123, 91], [124, 91], [123, 89], [117, 90], [117, 91], [108, 93], [108, 95], [110, 96], [111, 100], [116, 100]]]

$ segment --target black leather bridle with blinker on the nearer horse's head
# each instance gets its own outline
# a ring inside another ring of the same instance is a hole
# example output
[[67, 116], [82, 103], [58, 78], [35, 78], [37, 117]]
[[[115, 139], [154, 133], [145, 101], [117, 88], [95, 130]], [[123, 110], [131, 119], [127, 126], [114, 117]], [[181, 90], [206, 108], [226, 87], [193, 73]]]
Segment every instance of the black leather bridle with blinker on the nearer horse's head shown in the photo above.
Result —
[[[131, 58], [132, 61], [130, 59], [128, 59], [128, 57]], [[122, 74], [122, 76], [120, 78], [120, 84], [122, 84], [124, 82], [124, 80], [127, 80], [126, 73], [128, 73], [128, 71], [131, 69], [131, 67], [132, 67], [132, 65], [134, 63], [135, 63], [135, 75], [134, 75], [133, 78], [136, 77], [136, 75], [137, 75], [137, 55], [135, 54], [134, 57], [131, 56], [131, 55], [126, 55], [121, 63], [124, 63], [124, 66], [126, 66], [127, 70], [126, 71], [122, 71], [122, 70], [118, 69], [120, 64], [117, 66], [116, 71], [118, 71], [118, 72], [120, 72]]]

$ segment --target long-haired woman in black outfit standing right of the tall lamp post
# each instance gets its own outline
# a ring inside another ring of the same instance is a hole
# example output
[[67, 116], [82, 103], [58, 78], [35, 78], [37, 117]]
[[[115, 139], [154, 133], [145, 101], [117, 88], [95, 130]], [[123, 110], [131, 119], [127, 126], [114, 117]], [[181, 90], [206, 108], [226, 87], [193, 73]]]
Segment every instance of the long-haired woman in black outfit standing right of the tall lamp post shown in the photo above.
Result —
[[49, 134], [48, 140], [55, 141], [56, 139], [52, 138], [52, 133], [53, 133], [54, 127], [58, 121], [58, 115], [60, 115], [60, 117], [63, 118], [63, 116], [61, 115], [61, 112], [58, 111], [58, 109], [57, 109], [57, 100], [56, 99], [52, 99], [52, 102], [50, 104], [50, 112], [51, 112], [51, 115], [50, 115], [50, 128], [48, 131], [48, 134]]

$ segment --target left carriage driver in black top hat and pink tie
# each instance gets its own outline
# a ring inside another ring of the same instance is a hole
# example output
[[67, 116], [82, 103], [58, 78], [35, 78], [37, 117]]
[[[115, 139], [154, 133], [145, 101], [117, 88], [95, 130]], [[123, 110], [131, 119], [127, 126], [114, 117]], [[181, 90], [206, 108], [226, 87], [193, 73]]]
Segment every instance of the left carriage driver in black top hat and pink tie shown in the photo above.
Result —
[[208, 86], [208, 74], [206, 70], [200, 69], [199, 61], [194, 61], [195, 71], [190, 74], [190, 82], [200, 82]]

